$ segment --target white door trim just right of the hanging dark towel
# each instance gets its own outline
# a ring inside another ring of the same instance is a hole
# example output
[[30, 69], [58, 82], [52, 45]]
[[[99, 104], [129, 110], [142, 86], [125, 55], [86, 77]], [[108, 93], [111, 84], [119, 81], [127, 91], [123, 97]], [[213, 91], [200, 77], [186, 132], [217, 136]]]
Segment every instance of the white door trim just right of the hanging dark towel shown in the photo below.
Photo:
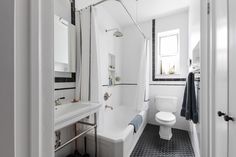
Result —
[[209, 55], [209, 16], [208, 11], [209, 0], [201, 0], [201, 82], [200, 82], [200, 154], [201, 157], [209, 156], [209, 133], [210, 133], [210, 55]]

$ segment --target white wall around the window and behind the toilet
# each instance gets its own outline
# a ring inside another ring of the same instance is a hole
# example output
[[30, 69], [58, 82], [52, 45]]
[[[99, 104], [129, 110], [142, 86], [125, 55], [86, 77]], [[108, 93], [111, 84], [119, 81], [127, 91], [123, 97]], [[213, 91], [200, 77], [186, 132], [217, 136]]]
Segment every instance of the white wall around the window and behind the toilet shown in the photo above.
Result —
[[[180, 63], [181, 73], [183, 77], [186, 77], [188, 73], [188, 11], [181, 11], [173, 15], [168, 15], [156, 19], [156, 33], [168, 31], [172, 29], [180, 29]], [[150, 61], [152, 63], [152, 60]], [[150, 65], [150, 110], [149, 110], [149, 122], [157, 124], [154, 120], [157, 109], [154, 103], [154, 97], [156, 96], [174, 96], [178, 98], [176, 124], [174, 128], [189, 130], [188, 121], [185, 118], [180, 117], [180, 110], [182, 108], [182, 100], [185, 88], [185, 82], [155, 82], [152, 81], [152, 66]], [[178, 85], [156, 85], [156, 84], [178, 84]]]

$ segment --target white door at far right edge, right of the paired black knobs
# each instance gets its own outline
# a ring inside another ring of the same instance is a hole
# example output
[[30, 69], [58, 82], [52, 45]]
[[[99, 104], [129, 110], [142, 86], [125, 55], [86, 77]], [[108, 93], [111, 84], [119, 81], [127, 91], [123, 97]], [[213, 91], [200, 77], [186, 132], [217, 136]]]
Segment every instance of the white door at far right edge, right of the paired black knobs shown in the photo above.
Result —
[[[229, 0], [229, 111], [236, 118], [236, 0]], [[236, 156], [236, 122], [229, 121], [228, 157]]]

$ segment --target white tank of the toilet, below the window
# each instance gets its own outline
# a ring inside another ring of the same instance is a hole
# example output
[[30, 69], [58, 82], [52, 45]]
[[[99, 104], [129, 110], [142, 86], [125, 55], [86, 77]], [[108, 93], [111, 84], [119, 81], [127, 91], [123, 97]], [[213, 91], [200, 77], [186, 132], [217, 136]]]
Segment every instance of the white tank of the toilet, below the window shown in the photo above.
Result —
[[158, 111], [176, 112], [177, 97], [158, 96], [155, 98], [155, 105]]

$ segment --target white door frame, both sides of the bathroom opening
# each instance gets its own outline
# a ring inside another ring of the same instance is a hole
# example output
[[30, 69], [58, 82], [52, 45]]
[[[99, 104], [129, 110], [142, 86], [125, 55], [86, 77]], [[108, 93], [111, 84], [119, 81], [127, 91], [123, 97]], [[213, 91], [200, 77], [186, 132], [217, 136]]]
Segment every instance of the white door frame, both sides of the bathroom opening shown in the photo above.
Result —
[[[208, 3], [201, 0], [201, 157], [211, 157], [211, 76], [210, 31]], [[31, 156], [54, 157], [54, 52], [53, 52], [53, 0], [30, 0], [31, 51]], [[50, 105], [51, 104], [51, 105]]]

